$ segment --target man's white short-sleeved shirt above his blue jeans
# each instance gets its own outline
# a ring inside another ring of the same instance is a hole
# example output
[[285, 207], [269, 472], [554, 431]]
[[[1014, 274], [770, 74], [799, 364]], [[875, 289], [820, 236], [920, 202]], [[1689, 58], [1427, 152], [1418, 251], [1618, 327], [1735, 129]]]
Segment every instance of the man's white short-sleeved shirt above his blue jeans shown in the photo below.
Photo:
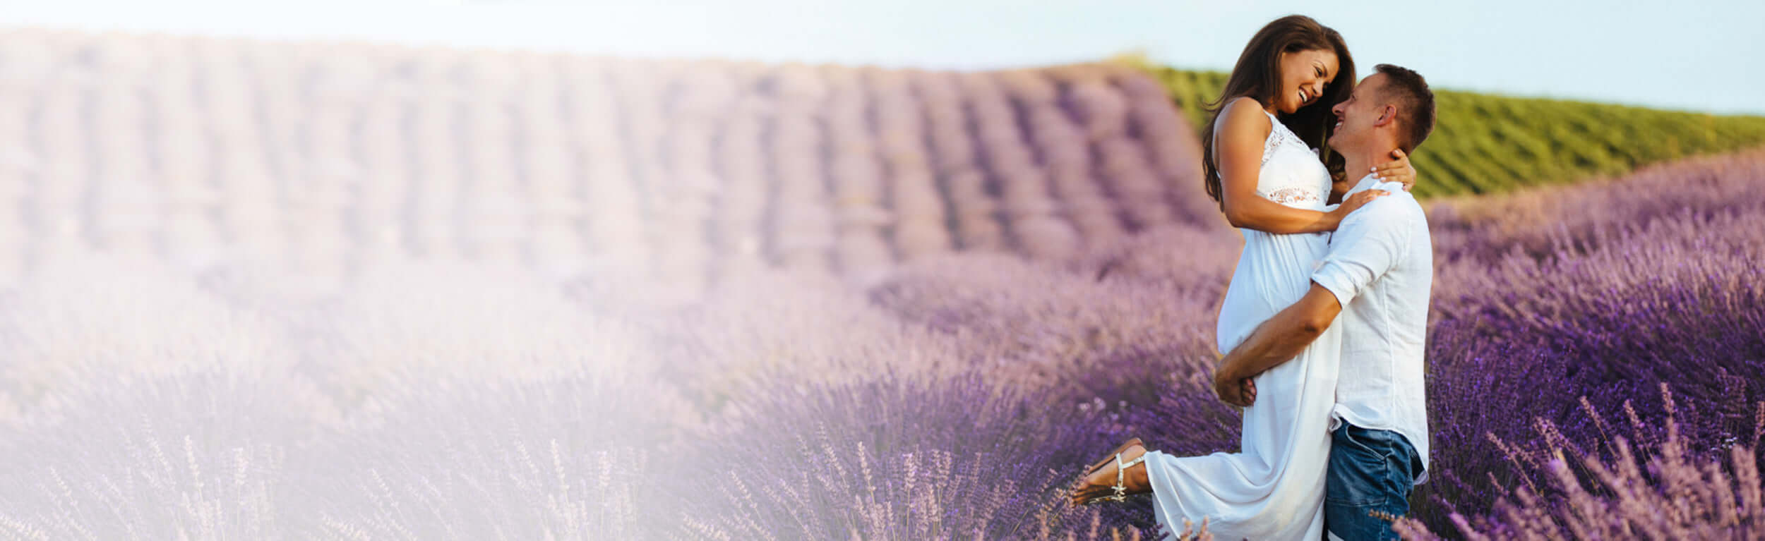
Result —
[[1371, 174], [1348, 194], [1378, 189], [1373, 199], [1331, 233], [1329, 252], [1311, 282], [1324, 285], [1343, 312], [1341, 374], [1329, 428], [1343, 421], [1393, 430], [1421, 455], [1428, 479], [1428, 400], [1423, 352], [1428, 337], [1428, 294], [1433, 287], [1433, 241], [1428, 217], [1403, 185]]

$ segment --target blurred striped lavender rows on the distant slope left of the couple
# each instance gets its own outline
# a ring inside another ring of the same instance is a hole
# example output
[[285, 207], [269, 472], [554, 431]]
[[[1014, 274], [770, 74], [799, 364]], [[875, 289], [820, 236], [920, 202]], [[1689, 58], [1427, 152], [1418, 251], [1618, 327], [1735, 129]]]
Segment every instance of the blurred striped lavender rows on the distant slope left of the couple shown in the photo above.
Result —
[[0, 264], [55, 243], [339, 280], [385, 257], [874, 282], [1172, 224], [1195, 137], [1123, 65], [925, 72], [0, 33]]

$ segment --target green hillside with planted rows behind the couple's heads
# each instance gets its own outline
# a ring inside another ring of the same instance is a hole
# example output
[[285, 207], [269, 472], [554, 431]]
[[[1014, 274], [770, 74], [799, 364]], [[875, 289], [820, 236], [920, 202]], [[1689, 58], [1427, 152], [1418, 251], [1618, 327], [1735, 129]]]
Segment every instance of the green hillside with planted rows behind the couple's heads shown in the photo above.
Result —
[[[1168, 88], [1197, 127], [1225, 72], [1183, 70], [1133, 58]], [[1765, 145], [1765, 118], [1659, 111], [1555, 99], [1435, 90], [1438, 123], [1412, 157], [1417, 196], [1490, 194], [1619, 174], [1687, 155]]]

